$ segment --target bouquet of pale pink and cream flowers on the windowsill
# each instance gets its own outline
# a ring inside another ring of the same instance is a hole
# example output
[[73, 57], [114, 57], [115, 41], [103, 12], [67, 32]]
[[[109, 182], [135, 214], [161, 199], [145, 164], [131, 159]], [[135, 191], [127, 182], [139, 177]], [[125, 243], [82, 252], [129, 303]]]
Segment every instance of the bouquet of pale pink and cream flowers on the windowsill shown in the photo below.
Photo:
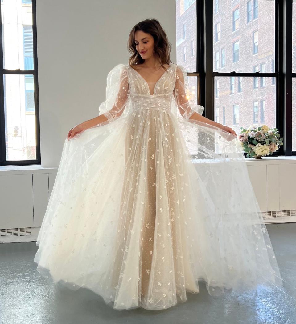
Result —
[[238, 139], [246, 157], [254, 157], [261, 159], [262, 156], [271, 155], [278, 150], [280, 145], [283, 145], [283, 138], [279, 138], [277, 128], [269, 128], [266, 125], [256, 128], [249, 126], [248, 129], [241, 127], [241, 134]]

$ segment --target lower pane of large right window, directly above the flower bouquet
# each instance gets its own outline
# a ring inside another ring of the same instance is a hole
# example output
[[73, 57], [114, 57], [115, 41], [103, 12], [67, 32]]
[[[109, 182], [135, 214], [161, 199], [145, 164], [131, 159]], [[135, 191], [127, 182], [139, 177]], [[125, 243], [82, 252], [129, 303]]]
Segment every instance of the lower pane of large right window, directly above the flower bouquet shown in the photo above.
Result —
[[[228, 127], [241, 133], [240, 127], [250, 125], [276, 127], [275, 86], [271, 85], [271, 77], [266, 77], [266, 86], [253, 89], [253, 77], [235, 77], [234, 94], [231, 94], [232, 83], [229, 76], [215, 77], [219, 84], [219, 97], [215, 96], [215, 107], [225, 107], [223, 120]], [[241, 80], [241, 92], [238, 92], [238, 82]], [[243, 84], [243, 86], [242, 86]]]

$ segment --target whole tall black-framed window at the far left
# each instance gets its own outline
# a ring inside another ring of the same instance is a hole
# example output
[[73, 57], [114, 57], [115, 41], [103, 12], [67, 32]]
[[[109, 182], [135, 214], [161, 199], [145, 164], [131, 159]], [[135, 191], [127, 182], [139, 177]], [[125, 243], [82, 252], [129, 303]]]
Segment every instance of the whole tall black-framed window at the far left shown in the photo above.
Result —
[[41, 163], [35, 6], [1, 1], [1, 166]]

